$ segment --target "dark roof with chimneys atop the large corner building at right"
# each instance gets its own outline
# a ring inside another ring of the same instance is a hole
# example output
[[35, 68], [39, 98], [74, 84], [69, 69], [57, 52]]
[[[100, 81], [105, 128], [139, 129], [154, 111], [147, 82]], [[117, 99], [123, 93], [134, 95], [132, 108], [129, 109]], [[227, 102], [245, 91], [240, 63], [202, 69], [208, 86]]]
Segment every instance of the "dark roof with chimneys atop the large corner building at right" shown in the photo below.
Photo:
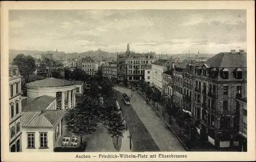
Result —
[[210, 67], [246, 67], [246, 53], [221, 52], [205, 62]]

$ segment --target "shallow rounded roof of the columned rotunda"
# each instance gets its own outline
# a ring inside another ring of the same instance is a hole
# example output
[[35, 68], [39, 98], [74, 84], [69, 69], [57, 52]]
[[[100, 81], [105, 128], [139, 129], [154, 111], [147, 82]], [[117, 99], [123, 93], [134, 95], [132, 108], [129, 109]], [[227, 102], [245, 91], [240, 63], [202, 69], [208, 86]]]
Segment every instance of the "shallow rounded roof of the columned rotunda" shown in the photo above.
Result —
[[75, 85], [76, 83], [69, 80], [58, 79], [54, 77], [36, 80], [35, 82], [27, 83], [26, 86], [31, 87], [65, 87]]

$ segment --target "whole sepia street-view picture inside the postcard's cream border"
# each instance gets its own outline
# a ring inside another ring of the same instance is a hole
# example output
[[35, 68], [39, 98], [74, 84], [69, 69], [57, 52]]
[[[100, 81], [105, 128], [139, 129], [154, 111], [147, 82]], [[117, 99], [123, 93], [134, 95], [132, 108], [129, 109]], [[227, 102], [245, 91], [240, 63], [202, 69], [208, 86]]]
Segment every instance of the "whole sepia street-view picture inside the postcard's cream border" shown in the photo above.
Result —
[[186, 152], [255, 151], [246, 9], [6, 14], [9, 152], [185, 160]]

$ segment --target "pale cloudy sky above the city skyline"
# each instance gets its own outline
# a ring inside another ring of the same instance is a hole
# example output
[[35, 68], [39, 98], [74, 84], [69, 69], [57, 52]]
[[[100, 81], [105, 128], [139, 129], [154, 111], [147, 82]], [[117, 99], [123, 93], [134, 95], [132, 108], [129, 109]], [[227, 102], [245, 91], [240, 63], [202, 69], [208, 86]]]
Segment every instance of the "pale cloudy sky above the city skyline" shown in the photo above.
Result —
[[218, 53], [246, 50], [246, 10], [9, 10], [9, 48]]

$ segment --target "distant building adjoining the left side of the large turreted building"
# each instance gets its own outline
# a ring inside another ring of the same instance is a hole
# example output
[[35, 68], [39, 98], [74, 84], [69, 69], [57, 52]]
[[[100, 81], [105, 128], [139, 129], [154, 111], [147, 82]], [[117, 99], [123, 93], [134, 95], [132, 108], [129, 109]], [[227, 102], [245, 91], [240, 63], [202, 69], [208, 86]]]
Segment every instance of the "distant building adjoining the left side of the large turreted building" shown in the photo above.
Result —
[[101, 66], [102, 77], [105, 80], [115, 83], [117, 80], [117, 65], [105, 63]]

